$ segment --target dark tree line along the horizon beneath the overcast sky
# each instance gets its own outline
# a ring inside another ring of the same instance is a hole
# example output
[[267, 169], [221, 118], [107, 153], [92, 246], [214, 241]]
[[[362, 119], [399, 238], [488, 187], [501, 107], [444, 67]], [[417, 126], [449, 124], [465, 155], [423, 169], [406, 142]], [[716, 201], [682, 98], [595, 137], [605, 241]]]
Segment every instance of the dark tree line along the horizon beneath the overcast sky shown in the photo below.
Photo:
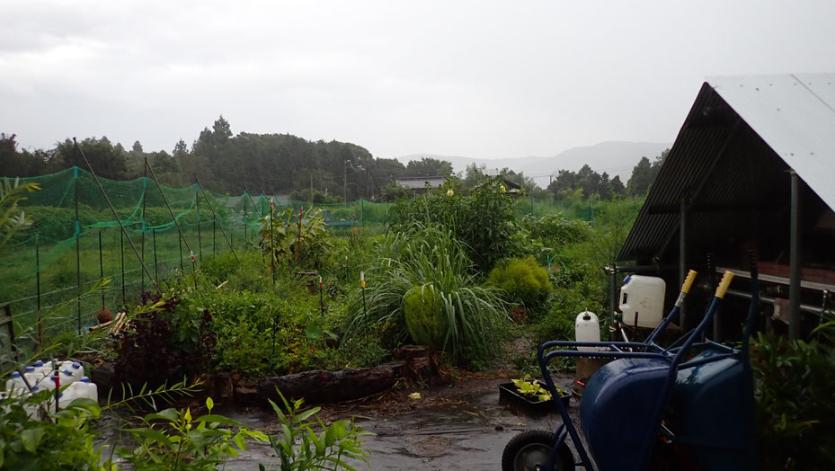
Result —
[[[51, 149], [19, 149], [14, 134], [0, 134], [0, 175], [37, 176], [55, 173], [78, 165], [86, 168], [71, 139]], [[332, 140], [308, 141], [290, 134], [234, 135], [229, 122], [220, 116], [212, 127], [200, 131], [189, 147], [183, 139], [171, 153], [146, 152], [139, 141], [128, 150], [106, 137], [84, 138], [78, 143], [95, 173], [111, 180], [132, 180], [145, 174], [145, 161], [151, 164], [161, 182], [182, 187], [195, 182], [228, 194], [244, 189], [253, 193], [288, 194], [298, 200], [336, 202], [343, 199], [380, 198], [383, 188], [404, 176], [449, 176], [452, 164], [423, 157], [402, 164], [395, 158], [374, 157], [364, 147]], [[644, 157], [635, 166], [626, 187], [615, 177], [591, 171], [586, 165], [579, 172], [561, 170], [546, 190], [537, 188], [523, 173], [504, 169], [505, 178], [519, 183], [537, 197], [555, 199], [602, 199], [614, 195], [645, 194], [657, 173], [663, 156], [653, 164]], [[462, 173], [465, 181], [475, 176], [475, 165]], [[643, 192], [642, 192], [643, 191]]]

